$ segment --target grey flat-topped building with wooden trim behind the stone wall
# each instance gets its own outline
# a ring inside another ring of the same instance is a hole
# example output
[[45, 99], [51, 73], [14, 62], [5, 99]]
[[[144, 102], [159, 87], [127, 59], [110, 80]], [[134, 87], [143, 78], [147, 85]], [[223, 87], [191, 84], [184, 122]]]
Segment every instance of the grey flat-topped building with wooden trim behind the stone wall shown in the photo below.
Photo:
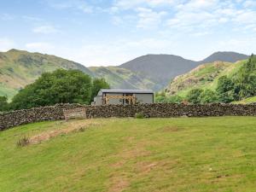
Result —
[[93, 105], [129, 105], [154, 103], [152, 90], [100, 90]]

